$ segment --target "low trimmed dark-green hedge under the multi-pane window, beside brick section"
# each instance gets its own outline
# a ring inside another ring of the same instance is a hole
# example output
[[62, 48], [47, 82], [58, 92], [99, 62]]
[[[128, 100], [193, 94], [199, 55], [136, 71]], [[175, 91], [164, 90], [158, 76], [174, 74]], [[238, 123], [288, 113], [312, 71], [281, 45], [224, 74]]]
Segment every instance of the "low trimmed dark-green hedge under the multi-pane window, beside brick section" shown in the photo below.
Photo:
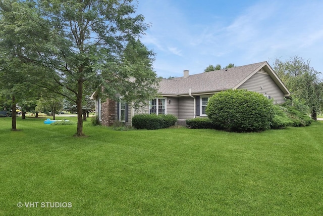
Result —
[[137, 129], [161, 129], [175, 125], [174, 115], [140, 114], [132, 117], [132, 126]]

